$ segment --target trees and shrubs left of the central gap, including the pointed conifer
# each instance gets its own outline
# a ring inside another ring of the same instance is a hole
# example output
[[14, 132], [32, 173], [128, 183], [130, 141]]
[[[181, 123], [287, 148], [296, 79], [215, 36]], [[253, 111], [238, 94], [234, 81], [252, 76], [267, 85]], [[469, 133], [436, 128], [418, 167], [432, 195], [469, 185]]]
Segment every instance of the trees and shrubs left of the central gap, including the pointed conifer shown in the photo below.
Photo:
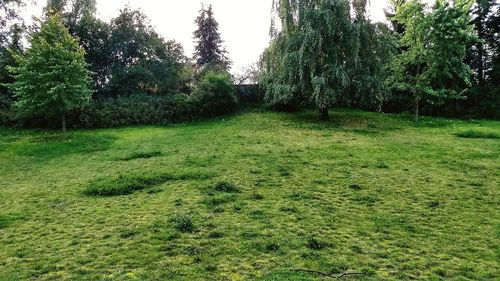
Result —
[[[89, 126], [169, 123], [236, 107], [211, 6], [196, 19], [193, 66], [183, 47], [156, 33], [140, 10], [125, 7], [105, 22], [96, 16], [96, 0], [48, 0], [43, 18], [27, 30], [21, 5], [1, 3], [2, 123], [59, 122], [63, 129], [66, 119]], [[139, 116], [139, 108], [149, 116]]]

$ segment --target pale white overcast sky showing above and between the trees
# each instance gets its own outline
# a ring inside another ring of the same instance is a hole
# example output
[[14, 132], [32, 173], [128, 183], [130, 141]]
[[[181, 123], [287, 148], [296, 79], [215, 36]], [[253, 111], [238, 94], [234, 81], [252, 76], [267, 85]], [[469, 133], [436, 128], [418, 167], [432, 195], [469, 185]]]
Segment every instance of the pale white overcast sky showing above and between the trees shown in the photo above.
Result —
[[[129, 4], [140, 8], [151, 20], [156, 31], [166, 39], [180, 42], [187, 56], [193, 53], [193, 31], [201, 0], [97, 0], [98, 16], [106, 21]], [[40, 15], [46, 0], [36, 0], [26, 14]], [[222, 39], [233, 61], [233, 72], [256, 62], [269, 43], [272, 0], [203, 0], [212, 4], [219, 22]], [[371, 0], [370, 14], [374, 21], [384, 20], [387, 0]]]

